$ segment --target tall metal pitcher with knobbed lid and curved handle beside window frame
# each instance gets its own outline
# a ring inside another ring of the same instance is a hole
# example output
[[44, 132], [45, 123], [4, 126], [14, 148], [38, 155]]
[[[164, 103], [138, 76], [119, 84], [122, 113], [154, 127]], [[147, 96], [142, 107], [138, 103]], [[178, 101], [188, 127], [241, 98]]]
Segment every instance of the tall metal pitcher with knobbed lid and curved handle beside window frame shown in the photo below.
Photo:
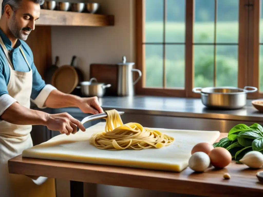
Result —
[[[118, 96], [133, 96], [134, 95], [134, 85], [141, 78], [141, 71], [139, 69], [134, 69], [134, 62], [126, 62], [126, 57], [122, 57], [123, 62], [118, 65], [118, 85], [117, 92]], [[133, 81], [133, 72], [138, 72], [139, 77]]]

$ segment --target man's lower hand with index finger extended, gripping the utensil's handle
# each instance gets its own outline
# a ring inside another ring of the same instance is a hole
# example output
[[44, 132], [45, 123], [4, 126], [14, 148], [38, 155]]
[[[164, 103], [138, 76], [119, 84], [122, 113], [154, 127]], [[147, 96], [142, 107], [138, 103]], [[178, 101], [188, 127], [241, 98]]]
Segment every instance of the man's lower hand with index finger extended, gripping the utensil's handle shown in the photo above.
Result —
[[70, 133], [75, 134], [77, 132], [77, 127], [79, 127], [81, 131], [86, 130], [80, 121], [66, 112], [50, 114], [46, 126], [50, 130], [59, 131], [66, 135], [69, 135]]

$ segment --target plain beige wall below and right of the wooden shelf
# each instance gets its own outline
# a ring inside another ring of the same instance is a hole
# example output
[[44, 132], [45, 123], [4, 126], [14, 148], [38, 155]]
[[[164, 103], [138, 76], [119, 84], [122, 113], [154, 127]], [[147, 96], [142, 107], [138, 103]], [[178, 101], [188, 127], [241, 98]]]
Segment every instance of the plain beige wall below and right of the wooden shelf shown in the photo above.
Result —
[[[115, 25], [109, 27], [52, 27], [52, 56], [60, 65], [69, 64], [73, 55], [78, 66], [89, 76], [92, 63], [119, 63], [122, 56], [135, 61], [134, 0], [96, 0], [99, 13], [114, 14]], [[87, 77], [88, 79], [88, 77]]]

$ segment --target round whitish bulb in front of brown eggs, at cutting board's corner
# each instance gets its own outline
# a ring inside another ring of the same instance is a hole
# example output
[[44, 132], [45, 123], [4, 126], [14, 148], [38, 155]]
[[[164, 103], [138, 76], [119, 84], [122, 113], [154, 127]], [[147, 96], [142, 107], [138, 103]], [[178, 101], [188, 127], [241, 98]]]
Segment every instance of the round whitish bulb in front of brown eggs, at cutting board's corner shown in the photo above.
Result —
[[188, 161], [188, 166], [194, 171], [203, 172], [210, 165], [210, 158], [204, 152], [195, 152]]

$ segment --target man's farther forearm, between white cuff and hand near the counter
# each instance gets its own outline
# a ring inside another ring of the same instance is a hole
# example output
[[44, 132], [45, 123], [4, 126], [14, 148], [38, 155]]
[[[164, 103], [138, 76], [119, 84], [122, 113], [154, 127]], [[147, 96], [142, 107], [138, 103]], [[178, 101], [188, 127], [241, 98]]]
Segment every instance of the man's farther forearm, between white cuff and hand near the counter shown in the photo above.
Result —
[[80, 99], [79, 96], [52, 90], [45, 101], [45, 106], [49, 108], [78, 107]]

